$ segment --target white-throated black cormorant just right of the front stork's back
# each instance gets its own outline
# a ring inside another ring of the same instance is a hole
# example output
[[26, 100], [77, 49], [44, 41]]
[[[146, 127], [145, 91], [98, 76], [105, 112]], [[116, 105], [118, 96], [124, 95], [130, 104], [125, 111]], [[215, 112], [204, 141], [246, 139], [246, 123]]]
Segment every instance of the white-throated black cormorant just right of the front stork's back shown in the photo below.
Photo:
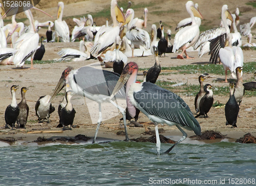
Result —
[[204, 118], [208, 118], [207, 113], [209, 112], [212, 104], [214, 103], [214, 94], [211, 90], [211, 85], [204, 85], [204, 91], [206, 92], [206, 94], [203, 96], [199, 103], [199, 114], [197, 114], [195, 118], [198, 118], [200, 115], [203, 115]]

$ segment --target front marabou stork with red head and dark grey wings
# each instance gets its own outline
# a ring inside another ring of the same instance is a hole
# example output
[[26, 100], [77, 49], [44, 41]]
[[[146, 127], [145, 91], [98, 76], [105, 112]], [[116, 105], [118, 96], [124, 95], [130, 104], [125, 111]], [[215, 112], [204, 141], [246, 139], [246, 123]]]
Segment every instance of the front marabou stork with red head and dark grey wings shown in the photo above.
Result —
[[178, 95], [150, 82], [135, 83], [137, 72], [138, 65], [135, 62], [127, 63], [110, 99], [127, 82], [127, 110], [131, 117], [134, 117], [136, 108], [138, 108], [148, 119], [154, 122], [158, 154], [160, 154], [161, 145], [158, 124], [176, 125], [183, 134], [182, 138], [165, 153], [169, 153], [170, 150], [187, 137], [186, 132], [181, 127], [193, 130], [197, 135], [201, 134], [201, 127], [198, 121], [195, 119], [188, 105]]

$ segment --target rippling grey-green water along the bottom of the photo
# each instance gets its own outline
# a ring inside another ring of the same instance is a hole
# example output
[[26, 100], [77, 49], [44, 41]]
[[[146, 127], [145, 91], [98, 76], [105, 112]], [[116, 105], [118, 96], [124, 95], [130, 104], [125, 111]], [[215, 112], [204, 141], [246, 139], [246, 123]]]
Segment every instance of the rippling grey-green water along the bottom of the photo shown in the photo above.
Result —
[[169, 147], [161, 144], [161, 155], [155, 144], [135, 142], [1, 147], [0, 185], [256, 184], [254, 144], [179, 144], [163, 154]]

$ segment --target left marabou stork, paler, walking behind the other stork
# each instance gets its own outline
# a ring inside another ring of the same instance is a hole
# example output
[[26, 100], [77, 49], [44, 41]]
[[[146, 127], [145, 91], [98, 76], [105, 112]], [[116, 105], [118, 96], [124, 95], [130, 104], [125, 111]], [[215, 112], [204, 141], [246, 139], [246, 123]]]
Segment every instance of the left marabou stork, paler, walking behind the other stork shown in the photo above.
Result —
[[[120, 75], [117, 73], [96, 69], [90, 66], [83, 66], [75, 70], [69, 66], [65, 69], [65, 71], [63, 71], [61, 78], [59, 79], [59, 82], [52, 94], [50, 102], [65, 85], [67, 85], [68, 89], [71, 89], [75, 94], [96, 101], [99, 104], [99, 119], [93, 143], [95, 143], [95, 139], [102, 121], [101, 103], [110, 102], [123, 114], [125, 140], [129, 141], [126, 129], [125, 110], [109, 99], [119, 77]], [[118, 92], [117, 98], [124, 98], [124, 95], [124, 90], [121, 90]]]

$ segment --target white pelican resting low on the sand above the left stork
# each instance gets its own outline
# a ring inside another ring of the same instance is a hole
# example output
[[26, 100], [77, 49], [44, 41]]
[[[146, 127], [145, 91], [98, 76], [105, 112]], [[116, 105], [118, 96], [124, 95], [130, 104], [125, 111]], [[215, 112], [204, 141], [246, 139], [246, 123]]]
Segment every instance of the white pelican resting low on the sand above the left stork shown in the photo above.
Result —
[[58, 55], [62, 55], [60, 60], [72, 60], [72, 61], [83, 61], [90, 58], [90, 55], [84, 53], [87, 49], [85, 48], [84, 41], [80, 40], [79, 51], [76, 49], [61, 49]]

